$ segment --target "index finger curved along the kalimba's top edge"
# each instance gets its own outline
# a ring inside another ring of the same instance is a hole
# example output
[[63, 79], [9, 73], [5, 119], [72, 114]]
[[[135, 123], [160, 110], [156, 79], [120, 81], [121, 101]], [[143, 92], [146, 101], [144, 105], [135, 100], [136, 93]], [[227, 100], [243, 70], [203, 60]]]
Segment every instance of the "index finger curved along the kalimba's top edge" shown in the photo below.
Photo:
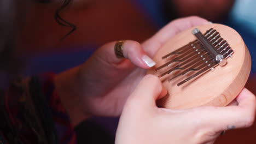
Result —
[[168, 23], [164, 28], [160, 29], [152, 38], [143, 43], [144, 50], [149, 56], [153, 57], [158, 49], [174, 35], [188, 28], [206, 25], [209, 21], [197, 16], [190, 16], [174, 20]]

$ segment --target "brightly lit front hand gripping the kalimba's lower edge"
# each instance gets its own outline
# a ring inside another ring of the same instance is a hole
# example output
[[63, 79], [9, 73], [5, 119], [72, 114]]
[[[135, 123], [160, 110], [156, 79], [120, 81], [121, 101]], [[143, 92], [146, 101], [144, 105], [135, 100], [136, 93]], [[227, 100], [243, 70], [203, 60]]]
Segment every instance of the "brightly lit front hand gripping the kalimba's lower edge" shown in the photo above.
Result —
[[256, 99], [244, 88], [237, 105], [201, 106], [188, 110], [159, 108], [166, 94], [158, 77], [147, 75], [127, 99], [118, 125], [116, 144], [214, 143], [221, 131], [249, 127]]

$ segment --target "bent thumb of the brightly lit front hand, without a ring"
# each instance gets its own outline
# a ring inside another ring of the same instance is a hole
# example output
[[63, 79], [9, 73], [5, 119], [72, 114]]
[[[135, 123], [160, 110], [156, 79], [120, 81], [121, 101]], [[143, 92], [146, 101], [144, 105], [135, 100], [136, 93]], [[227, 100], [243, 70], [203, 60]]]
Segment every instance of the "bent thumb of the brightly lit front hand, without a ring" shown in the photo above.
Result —
[[167, 94], [161, 81], [154, 75], [146, 75], [131, 94], [127, 103], [140, 107], [156, 107], [155, 101]]

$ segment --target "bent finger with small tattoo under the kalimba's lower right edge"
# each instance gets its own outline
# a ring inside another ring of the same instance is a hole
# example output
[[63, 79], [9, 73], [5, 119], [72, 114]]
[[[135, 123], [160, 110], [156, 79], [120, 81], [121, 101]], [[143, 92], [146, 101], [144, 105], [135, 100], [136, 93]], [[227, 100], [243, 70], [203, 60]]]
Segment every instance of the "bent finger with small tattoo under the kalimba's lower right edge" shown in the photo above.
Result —
[[215, 131], [250, 127], [255, 117], [255, 95], [244, 88], [236, 100], [237, 106], [205, 107], [198, 114], [203, 123]]

